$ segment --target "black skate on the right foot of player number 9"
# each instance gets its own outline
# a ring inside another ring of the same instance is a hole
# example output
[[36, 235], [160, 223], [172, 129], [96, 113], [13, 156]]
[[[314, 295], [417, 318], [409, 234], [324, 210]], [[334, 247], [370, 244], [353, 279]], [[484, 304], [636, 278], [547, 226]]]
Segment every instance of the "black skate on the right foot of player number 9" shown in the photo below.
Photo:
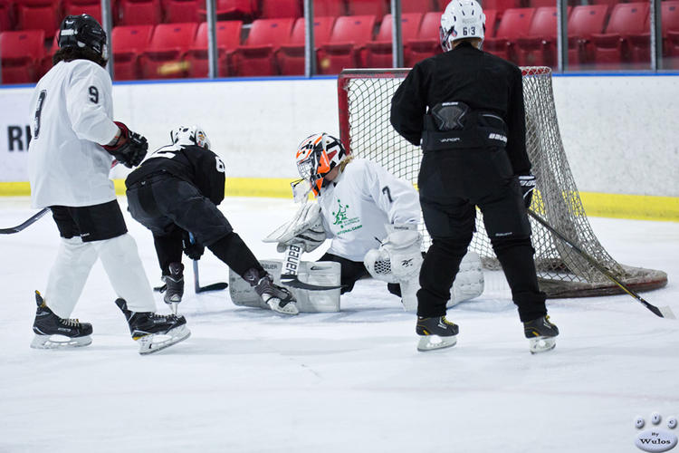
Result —
[[125, 299], [116, 299], [125, 319], [128, 320], [132, 340], [139, 342], [139, 353], [158, 352], [191, 335], [184, 316], [156, 314], [153, 312], [130, 312]]

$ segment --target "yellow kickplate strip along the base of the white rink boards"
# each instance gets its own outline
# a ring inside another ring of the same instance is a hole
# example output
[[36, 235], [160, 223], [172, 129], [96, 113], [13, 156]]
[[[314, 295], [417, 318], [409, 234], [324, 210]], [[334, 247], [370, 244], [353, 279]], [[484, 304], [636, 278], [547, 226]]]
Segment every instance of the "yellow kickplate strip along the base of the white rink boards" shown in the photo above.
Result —
[[[294, 178], [226, 178], [227, 197], [292, 198]], [[113, 181], [116, 194], [125, 195], [125, 182]], [[28, 182], [0, 182], [0, 196], [22, 197], [31, 194]], [[679, 222], [679, 197], [604, 194], [580, 192], [588, 216], [634, 218]]]

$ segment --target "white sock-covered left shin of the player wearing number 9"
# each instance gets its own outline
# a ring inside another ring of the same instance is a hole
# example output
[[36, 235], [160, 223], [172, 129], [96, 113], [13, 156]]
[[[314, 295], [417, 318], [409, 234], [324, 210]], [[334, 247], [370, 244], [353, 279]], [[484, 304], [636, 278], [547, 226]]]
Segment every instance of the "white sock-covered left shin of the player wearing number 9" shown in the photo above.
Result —
[[82, 294], [97, 250], [80, 237], [62, 238], [44, 291], [47, 306], [60, 318], [68, 318]]

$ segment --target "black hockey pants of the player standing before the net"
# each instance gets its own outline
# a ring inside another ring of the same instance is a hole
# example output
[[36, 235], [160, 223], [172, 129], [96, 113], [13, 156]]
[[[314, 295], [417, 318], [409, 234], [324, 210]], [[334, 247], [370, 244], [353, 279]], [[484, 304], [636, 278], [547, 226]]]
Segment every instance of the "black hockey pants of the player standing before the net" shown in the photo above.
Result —
[[491, 239], [521, 321], [547, 313], [531, 245], [531, 225], [502, 148], [426, 152], [418, 177], [420, 204], [432, 246], [420, 271], [417, 314], [445, 314], [450, 288], [472, 240], [476, 207]]

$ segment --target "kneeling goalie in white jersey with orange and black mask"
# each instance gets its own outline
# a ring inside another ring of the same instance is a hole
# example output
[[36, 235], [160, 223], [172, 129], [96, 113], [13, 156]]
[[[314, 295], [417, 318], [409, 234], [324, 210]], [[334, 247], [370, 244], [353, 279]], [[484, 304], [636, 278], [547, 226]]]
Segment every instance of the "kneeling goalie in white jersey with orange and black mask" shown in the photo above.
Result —
[[[301, 180], [293, 183], [302, 206], [283, 226], [264, 239], [280, 252], [291, 246], [301, 253], [317, 249], [326, 239], [330, 248], [314, 263], [301, 263], [313, 278], [320, 266], [339, 273], [339, 294], [350, 292], [366, 276], [387, 283], [401, 297], [404, 309], [416, 311], [416, 291], [422, 265], [422, 236], [417, 231], [420, 207], [415, 188], [367, 159], [354, 159], [341, 142], [325, 133], [301, 141], [296, 154]], [[309, 192], [316, 202], [307, 202]], [[323, 264], [337, 263], [329, 269]], [[468, 254], [451, 289], [448, 306], [483, 292], [483, 271], [478, 255]], [[309, 291], [309, 298], [321, 291]], [[301, 311], [304, 311], [301, 309]], [[313, 311], [313, 310], [311, 310]]]

